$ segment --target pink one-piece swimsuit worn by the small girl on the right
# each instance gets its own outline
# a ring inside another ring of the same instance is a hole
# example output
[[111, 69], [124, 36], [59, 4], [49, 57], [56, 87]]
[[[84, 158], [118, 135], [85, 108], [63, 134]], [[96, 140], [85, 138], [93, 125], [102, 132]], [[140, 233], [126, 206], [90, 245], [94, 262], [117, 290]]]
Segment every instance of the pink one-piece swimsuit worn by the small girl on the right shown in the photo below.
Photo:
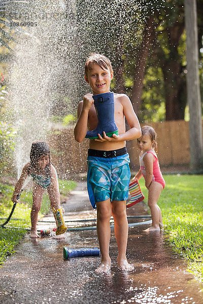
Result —
[[161, 173], [161, 170], [160, 170], [160, 167], [159, 167], [158, 158], [157, 158], [157, 155], [156, 155], [154, 150], [146, 151], [145, 153], [143, 153], [140, 156], [140, 168], [141, 168], [142, 174], [145, 178], [146, 169], [145, 169], [145, 164], [144, 164], [143, 158], [147, 153], [151, 153], [154, 156], [154, 159], [155, 159], [154, 164], [153, 164], [153, 178], [152, 178], [152, 180], [159, 182], [162, 185], [162, 187], [164, 188], [165, 187], [165, 180], [163, 179], [163, 176], [162, 176], [162, 173]]

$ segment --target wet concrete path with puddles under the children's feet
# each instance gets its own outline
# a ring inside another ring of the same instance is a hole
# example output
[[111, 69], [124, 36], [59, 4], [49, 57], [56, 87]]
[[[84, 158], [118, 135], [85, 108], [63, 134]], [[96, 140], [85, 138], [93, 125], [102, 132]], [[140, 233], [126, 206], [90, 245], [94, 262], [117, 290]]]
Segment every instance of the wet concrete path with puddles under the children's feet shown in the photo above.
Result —
[[[85, 182], [78, 184], [63, 206], [65, 219], [96, 218], [87, 197]], [[142, 203], [127, 212], [129, 216], [147, 213]], [[144, 220], [129, 218], [131, 222]], [[70, 223], [72, 227], [81, 224]], [[95, 225], [94, 220], [92, 225]], [[42, 227], [43, 223], [40, 223], [39, 228]], [[172, 253], [166, 236], [162, 233], [143, 233], [146, 227], [136, 224], [129, 227], [127, 257], [135, 266], [135, 270], [129, 273], [117, 268], [117, 246], [112, 230], [112, 270], [109, 275], [95, 274], [94, 270], [100, 262], [98, 256], [63, 260], [64, 246], [98, 247], [96, 230], [71, 231], [61, 239], [46, 237], [31, 240], [27, 235], [17, 246], [17, 252], [0, 268], [0, 302], [201, 304], [201, 286], [191, 274], [186, 273], [187, 264]]]

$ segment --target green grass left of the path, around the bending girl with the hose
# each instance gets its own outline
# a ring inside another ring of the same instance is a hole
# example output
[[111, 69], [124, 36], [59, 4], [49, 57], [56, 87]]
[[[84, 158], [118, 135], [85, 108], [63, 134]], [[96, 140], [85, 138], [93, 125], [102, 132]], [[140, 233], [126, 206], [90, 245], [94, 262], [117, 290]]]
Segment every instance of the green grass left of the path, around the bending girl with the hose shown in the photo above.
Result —
[[[61, 201], [67, 197], [69, 192], [74, 189], [76, 182], [59, 180], [59, 189], [61, 195]], [[8, 218], [13, 203], [11, 201], [14, 186], [0, 183], [0, 217]], [[0, 227], [0, 264], [4, 263], [8, 256], [15, 252], [14, 247], [26, 233], [26, 228], [30, 227], [30, 210], [32, 206], [32, 191], [31, 189], [25, 189], [20, 197], [20, 203], [17, 203], [14, 213], [6, 226], [12, 226], [15, 228], [2, 228]], [[39, 213], [39, 217], [43, 217], [51, 211], [50, 201], [47, 193], [43, 196], [42, 207]], [[20, 220], [16, 220], [19, 218]], [[0, 224], [5, 222], [4, 219], [0, 219]], [[18, 228], [19, 227], [19, 228]]]

